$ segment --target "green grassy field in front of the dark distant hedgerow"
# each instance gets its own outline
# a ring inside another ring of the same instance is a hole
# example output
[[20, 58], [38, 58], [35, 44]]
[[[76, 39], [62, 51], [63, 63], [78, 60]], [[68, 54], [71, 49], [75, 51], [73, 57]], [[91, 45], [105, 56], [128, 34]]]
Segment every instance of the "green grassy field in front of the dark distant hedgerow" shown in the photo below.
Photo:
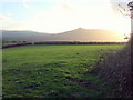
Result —
[[122, 47], [23, 46], [3, 49], [3, 97], [102, 97], [101, 80], [88, 71], [100, 53]]

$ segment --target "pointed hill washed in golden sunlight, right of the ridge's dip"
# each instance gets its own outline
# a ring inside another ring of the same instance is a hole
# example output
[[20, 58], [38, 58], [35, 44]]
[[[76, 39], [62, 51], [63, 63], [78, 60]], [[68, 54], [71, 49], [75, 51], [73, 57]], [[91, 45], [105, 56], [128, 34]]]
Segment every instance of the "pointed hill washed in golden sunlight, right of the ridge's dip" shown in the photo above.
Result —
[[83, 29], [79, 28], [54, 36], [54, 39], [69, 41], [123, 41], [121, 33], [104, 29]]

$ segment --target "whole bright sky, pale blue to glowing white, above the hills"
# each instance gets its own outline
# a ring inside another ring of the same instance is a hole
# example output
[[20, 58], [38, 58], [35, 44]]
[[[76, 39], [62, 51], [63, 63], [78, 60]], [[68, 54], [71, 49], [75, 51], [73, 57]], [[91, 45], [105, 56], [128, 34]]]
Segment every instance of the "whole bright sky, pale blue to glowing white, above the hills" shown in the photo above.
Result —
[[59, 33], [76, 28], [130, 33], [130, 18], [110, 0], [1, 0], [0, 29]]

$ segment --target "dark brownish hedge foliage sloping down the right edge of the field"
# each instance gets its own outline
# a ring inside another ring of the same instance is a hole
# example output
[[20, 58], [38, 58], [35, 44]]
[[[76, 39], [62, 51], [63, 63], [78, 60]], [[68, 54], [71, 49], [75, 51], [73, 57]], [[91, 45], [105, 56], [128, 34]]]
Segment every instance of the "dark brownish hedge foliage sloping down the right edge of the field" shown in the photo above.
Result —
[[103, 97], [133, 97], [133, 34], [126, 47], [115, 53], [104, 53], [91, 73], [102, 79]]

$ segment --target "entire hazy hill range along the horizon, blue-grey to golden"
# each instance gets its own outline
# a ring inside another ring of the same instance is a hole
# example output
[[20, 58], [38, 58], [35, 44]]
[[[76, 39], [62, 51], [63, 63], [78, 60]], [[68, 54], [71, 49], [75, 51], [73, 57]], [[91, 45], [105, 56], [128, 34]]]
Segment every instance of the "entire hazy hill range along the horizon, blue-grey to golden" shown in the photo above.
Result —
[[8, 41], [124, 41], [124, 37], [121, 33], [112, 30], [83, 28], [55, 34], [3, 30], [2, 39]]

